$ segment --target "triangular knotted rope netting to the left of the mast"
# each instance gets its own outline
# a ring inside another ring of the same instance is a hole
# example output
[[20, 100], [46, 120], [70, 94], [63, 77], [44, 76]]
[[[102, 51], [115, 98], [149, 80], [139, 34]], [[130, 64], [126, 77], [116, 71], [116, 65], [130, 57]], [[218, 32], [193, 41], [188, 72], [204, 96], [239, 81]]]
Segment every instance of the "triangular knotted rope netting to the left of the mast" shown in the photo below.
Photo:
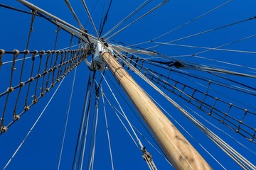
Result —
[[[25, 50], [12, 52], [0, 50], [1, 77], [1, 133], [29, 111], [31, 106], [45, 96], [87, 57], [90, 50]], [[26, 57], [28, 56], [28, 57]], [[26, 60], [26, 61], [25, 61]], [[24, 61], [25, 64], [22, 64]], [[29, 68], [29, 69], [28, 69]], [[20, 77], [20, 79], [18, 79]], [[15, 103], [10, 105], [9, 103]], [[22, 103], [22, 104], [21, 104]]]

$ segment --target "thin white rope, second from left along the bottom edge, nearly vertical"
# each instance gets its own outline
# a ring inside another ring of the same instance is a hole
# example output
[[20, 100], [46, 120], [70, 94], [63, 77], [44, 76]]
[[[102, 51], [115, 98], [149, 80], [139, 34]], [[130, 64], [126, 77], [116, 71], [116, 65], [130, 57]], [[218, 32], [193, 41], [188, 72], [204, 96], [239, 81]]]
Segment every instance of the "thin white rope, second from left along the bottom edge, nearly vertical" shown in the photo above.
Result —
[[70, 114], [71, 101], [72, 101], [72, 98], [73, 98], [73, 90], [74, 90], [74, 86], [75, 86], [75, 75], [76, 75], [76, 72], [77, 72], [77, 67], [75, 67], [75, 73], [74, 73], [74, 77], [73, 77], [73, 84], [72, 84], [72, 88], [71, 88], [71, 92], [70, 92], [68, 111], [67, 111], [67, 116], [66, 116], [66, 120], [65, 120], [65, 129], [64, 129], [64, 132], [63, 132], [63, 140], [61, 142], [60, 158], [58, 160], [58, 170], [60, 169], [60, 162], [61, 162], [61, 157], [62, 157], [62, 153], [63, 153], [63, 146], [64, 146], [64, 143], [65, 143], [65, 135], [66, 135], [67, 127], [68, 127], [68, 118], [69, 118], [69, 114]]

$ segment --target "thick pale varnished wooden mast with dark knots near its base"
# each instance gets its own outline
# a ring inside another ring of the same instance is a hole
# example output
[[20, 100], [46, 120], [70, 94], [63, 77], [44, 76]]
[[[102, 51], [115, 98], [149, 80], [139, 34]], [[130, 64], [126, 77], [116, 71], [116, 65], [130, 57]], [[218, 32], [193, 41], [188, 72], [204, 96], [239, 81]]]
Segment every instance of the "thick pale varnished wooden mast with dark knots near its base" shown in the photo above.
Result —
[[115, 79], [134, 106], [139, 111], [146, 125], [156, 138], [161, 149], [175, 169], [211, 169], [208, 163], [193, 148], [171, 121], [161, 112], [156, 104], [137, 84], [128, 72], [114, 58], [112, 53], [103, 52], [102, 58]]

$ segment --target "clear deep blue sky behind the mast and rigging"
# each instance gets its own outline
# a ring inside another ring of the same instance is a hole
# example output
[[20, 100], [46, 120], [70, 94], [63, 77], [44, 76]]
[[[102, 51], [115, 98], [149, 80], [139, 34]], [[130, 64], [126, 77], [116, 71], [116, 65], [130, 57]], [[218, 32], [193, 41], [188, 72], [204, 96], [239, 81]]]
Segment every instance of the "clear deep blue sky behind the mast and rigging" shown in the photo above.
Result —
[[[52, 13], [55, 16], [67, 21], [73, 26], [79, 27], [73, 18], [72, 14], [68, 10], [68, 7], [65, 5], [65, 1], [31, 1], [36, 4], [36, 6], [43, 8], [44, 10]], [[110, 1], [86, 1], [87, 6], [91, 12], [93, 21], [97, 29], [100, 28], [100, 23], [102, 21], [102, 16], [104, 17], [107, 6]], [[103, 30], [103, 34], [115, 26], [119, 21], [127, 16], [129, 13], [134, 11], [137, 6], [142, 4], [144, 1], [113, 1], [110, 8], [110, 13], [107, 17], [107, 22]], [[149, 11], [151, 8], [154, 8], [157, 4], [160, 4], [162, 1], [151, 1], [151, 3], [146, 6], [142, 11], [139, 11], [137, 15], [131, 18], [127, 23], [124, 23], [120, 28], [126, 26], [128, 23], [131, 23], [139, 16], [142, 16], [146, 11]], [[156, 9], [154, 12], [149, 13], [138, 22], [134, 23], [132, 26], [129, 26], [127, 29], [123, 30], [119, 34], [111, 38], [118, 42], [123, 42], [127, 45], [134, 45], [141, 42], [147, 42], [153, 40], [154, 38], [162, 35], [178, 26], [182, 26], [188, 21], [192, 21], [194, 18], [201, 16], [203, 13], [206, 13], [213, 8], [224, 4], [226, 1], [168, 1], [163, 6]], [[29, 11], [28, 8], [19, 4], [17, 1], [1, 1], [2, 4], [13, 6], [16, 8], [21, 8], [23, 10]], [[77, 3], [77, 4], [76, 4]], [[88, 21], [87, 14], [82, 7], [82, 4], [75, 1], [70, 1], [70, 4], [75, 9], [75, 12], [80, 18], [80, 21], [85, 28], [87, 28], [88, 33], [95, 35], [95, 31], [92, 28], [90, 21]], [[105, 5], [104, 5], [105, 4]], [[103, 9], [103, 10], [102, 10]], [[102, 15], [102, 11], [104, 14]], [[20, 13], [17, 11], [11, 11], [10, 9], [0, 8], [0, 18], [1, 18], [1, 27], [0, 27], [0, 49], [6, 51], [12, 51], [14, 49], [23, 51], [26, 47], [26, 42], [28, 38], [29, 26], [31, 23], [31, 16], [28, 14]], [[199, 18], [196, 21], [193, 21], [186, 26], [174, 30], [172, 33], [165, 35], [157, 40], [155, 43], [148, 42], [140, 45], [140, 47], [147, 48], [153, 45], [158, 45], [160, 42], [169, 42], [172, 40], [177, 40], [179, 38], [184, 38], [189, 35], [194, 35], [196, 33], [202, 33], [203, 31], [219, 28], [221, 26], [227, 26], [230, 23], [235, 23], [238, 21], [243, 21], [247, 18], [252, 18], [255, 15], [255, 1], [229, 1], [228, 4], [222, 6], [221, 8], [216, 9], [213, 12], [208, 13], [206, 16]], [[242, 72], [245, 74], [255, 75], [255, 69], [250, 69], [255, 67], [255, 37], [247, 38], [255, 34], [256, 20], [252, 19], [251, 21], [245, 21], [243, 23], [235, 24], [234, 26], [229, 26], [226, 28], [221, 28], [215, 31], [210, 31], [209, 33], [204, 33], [198, 36], [193, 36], [191, 38], [186, 38], [184, 40], [179, 40], [173, 42], [175, 45], [161, 45], [159, 47], [153, 48], [156, 52], [160, 52], [163, 55], [169, 57], [175, 57], [178, 60], [186, 61], [187, 63], [199, 63], [206, 64], [211, 67], [218, 67], [221, 69], [230, 69], [233, 72]], [[33, 33], [31, 35], [31, 40], [28, 45], [29, 50], [53, 50], [55, 42], [55, 30], [56, 26], [53, 26], [52, 23], [49, 23], [43, 18], [36, 17], [33, 23]], [[247, 38], [246, 40], [241, 40], [242, 38]], [[241, 40], [239, 42], [235, 42]], [[157, 42], [157, 43], [156, 43]], [[234, 42], [230, 45], [229, 42]], [[73, 45], [77, 45], [78, 40], [73, 40]], [[63, 49], [70, 45], [70, 35], [65, 33], [65, 31], [60, 30], [60, 35], [58, 37], [58, 42], [56, 43], [56, 49]], [[180, 47], [177, 45], [190, 45], [194, 47]], [[192, 57], [192, 54], [202, 52], [206, 49], [198, 49], [195, 47], [219, 47], [220, 45], [225, 45], [220, 47], [223, 50], [210, 50], [209, 52], [203, 52], [198, 54], [198, 57]], [[76, 47], [74, 47], [76, 48]], [[239, 52], [230, 52], [230, 50], [239, 50]], [[245, 52], [246, 51], [246, 52]], [[253, 53], [254, 52], [254, 53]], [[183, 57], [188, 55], [188, 57]], [[206, 57], [211, 60], [203, 60], [202, 58]], [[12, 55], [3, 55], [3, 62], [8, 62], [12, 60]], [[157, 59], [154, 59], [157, 60]], [[222, 62], [216, 62], [220, 60]], [[224, 64], [224, 62], [233, 63]], [[245, 67], [237, 67], [234, 64], [239, 64]], [[20, 72], [21, 62], [16, 64], [17, 71], [14, 75], [14, 82], [18, 82], [18, 73]], [[26, 62], [26, 75], [30, 74], [31, 62]], [[5, 91], [9, 84], [11, 64], [4, 64], [0, 67], [0, 93]], [[156, 69], [156, 67], [151, 67], [151, 69]], [[188, 71], [188, 70], [185, 70]], [[75, 86], [73, 91], [73, 99], [70, 107], [70, 115], [68, 119], [68, 128], [67, 135], [65, 138], [65, 143], [63, 147], [63, 155], [60, 163], [60, 169], [71, 169], [73, 163], [73, 156], [75, 152], [75, 144], [78, 136], [78, 129], [80, 125], [80, 118], [82, 115], [82, 107], [85, 101], [85, 91], [87, 88], [87, 79], [89, 77], [89, 69], [87, 65], [82, 62], [77, 68], [76, 74], [70, 72], [67, 77], [65, 77], [63, 84], [60, 86], [58, 92], [55, 94], [53, 100], [50, 102], [48, 108], [46, 108], [45, 113], [43, 113], [41, 119], [38, 121], [37, 125], [31, 131], [31, 134], [26, 139], [26, 142], [22, 145], [21, 149], [18, 150], [14, 159], [12, 159], [7, 169], [57, 169], [58, 159], [60, 157], [60, 148], [61, 140], [63, 137], [64, 127], [65, 127], [65, 116], [68, 111], [68, 104], [70, 100], [70, 91], [73, 84], [73, 77], [75, 75]], [[159, 71], [160, 72], [160, 71]], [[225, 169], [240, 169], [240, 167], [235, 164], [225, 153], [223, 153], [218, 147], [211, 142], [203, 132], [198, 130], [193, 123], [190, 123], [184, 115], [182, 115], [174, 106], [171, 106], [168, 101], [160, 94], [158, 94], [154, 89], [147, 85], [142, 79], [139, 79], [137, 75], [130, 72], [134, 79], [139, 81], [139, 84], [144, 87], [144, 89], [154, 98], [157, 99], [161, 106], [163, 106], [166, 111], [168, 111], [171, 116], [178, 122], [181, 123], [182, 127], [186, 129], [193, 137], [188, 135], [188, 133], [183, 130], [173, 119], [174, 124], [178, 129], [181, 130], [184, 136], [188, 138], [191, 144], [198, 149], [198, 152], [206, 159], [208, 164], [213, 167], [213, 169], [223, 169], [220, 164], [222, 164]], [[196, 74], [198, 76], [205, 76], [208, 79], [209, 74], [203, 71], [191, 71], [191, 74]], [[114, 94], [117, 95], [118, 100], [122, 103], [124, 111], [131, 123], [140, 131], [142, 135], [139, 135], [140, 140], [146, 146], [146, 149], [153, 155], [154, 163], [158, 169], [172, 169], [172, 167], [152, 148], [146, 139], [149, 139], [150, 142], [154, 143], [151, 140], [149, 134], [144, 130], [143, 126], [137, 120], [136, 116], [129, 109], [129, 106], [126, 106], [125, 101], [122, 99], [122, 96], [125, 100], [128, 101], [127, 97], [122, 92], [122, 89], [119, 88], [118, 84], [114, 82], [114, 78], [109, 71], [105, 72], [107, 81], [110, 83], [111, 88], [115, 91]], [[110, 77], [108, 79], [107, 77]], [[231, 78], [230, 76], [229, 78]], [[100, 79], [100, 73], [96, 74], [97, 80]], [[243, 84], [248, 84], [249, 86], [255, 86], [255, 78], [245, 78], [245, 77], [232, 77], [235, 81], [239, 81]], [[26, 76], [24, 78], [26, 80]], [[190, 78], [181, 76], [180, 74], [173, 74], [173, 79], [178, 81], [190, 82]], [[110, 82], [113, 81], [113, 84]], [[219, 79], [218, 79], [219, 80]], [[223, 80], [221, 80], [223, 81]], [[208, 84], [203, 84], [201, 81], [196, 81], [196, 88], [207, 89]], [[203, 88], [203, 86], [206, 86]], [[228, 84], [228, 83], [227, 83]], [[105, 81], [102, 81], [103, 90], [110, 101], [117, 106], [117, 103], [114, 101], [110, 90], [107, 88]], [[45, 108], [48, 103], [50, 96], [53, 95], [53, 92], [57, 88], [57, 85], [50, 90], [50, 92], [41, 99], [31, 111], [28, 111], [22, 116], [18, 122], [14, 123], [9, 130], [1, 135], [0, 145], [0, 169], [4, 168], [6, 163], [9, 161], [11, 156], [16, 151], [18, 145], [22, 142], [23, 138], [26, 136], [28, 131], [31, 129], [33, 123]], [[255, 96], [240, 94], [237, 92], [228, 91], [220, 86], [210, 86], [213, 88], [213, 94], [221, 94], [220, 98], [235, 98], [235, 102], [241, 104], [241, 107], [246, 106], [248, 110], [255, 111]], [[26, 91], [26, 90], [23, 90]], [[120, 95], [117, 91], [120, 91]], [[216, 92], [217, 91], [217, 92]], [[177, 98], [173, 94], [170, 94], [169, 91], [164, 90], [164, 92], [174, 98], [178, 103], [183, 103], [181, 98]], [[17, 91], [14, 91], [14, 94], [10, 95], [9, 105], [6, 110], [6, 120], [11, 120], [12, 108], [14, 107], [14, 101], [16, 100]], [[25, 92], [23, 92], [25, 93]], [[224, 97], [225, 96], [225, 97]], [[101, 96], [100, 96], [101, 97]], [[4, 103], [6, 100], [5, 97], [1, 97], [1, 103]], [[228, 101], [229, 99], [227, 99]], [[20, 99], [18, 104], [19, 111], [23, 106], [23, 98]], [[231, 101], [228, 101], [231, 102]], [[241, 103], [240, 103], [241, 102]], [[94, 100], [92, 100], [94, 103]], [[107, 105], [107, 120], [109, 123], [110, 138], [112, 144], [112, 154], [114, 161], [114, 169], [146, 169], [146, 162], [142, 159], [142, 152], [134, 145], [134, 142], [129, 137], [127, 132], [124, 130], [124, 127], [119, 122], [119, 119], [115, 115], [114, 111], [110, 106]], [[111, 169], [110, 162], [110, 152], [107, 144], [107, 130], [105, 128], [105, 117], [103, 111], [103, 103], [100, 100], [100, 110], [99, 110], [99, 120], [97, 127], [97, 143], [96, 143], [96, 154], [95, 154], [95, 169]], [[183, 106], [186, 107], [186, 106]], [[2, 112], [4, 104], [0, 106], [0, 111]], [[133, 108], [133, 107], [132, 107]], [[191, 107], [192, 108], [192, 107]], [[250, 109], [249, 109], [250, 108]], [[220, 106], [220, 109], [225, 110], [224, 106]], [[223, 140], [227, 140], [235, 149], [238, 149], [238, 152], [244, 154], [247, 159], [249, 159], [252, 164], [256, 163], [255, 144], [245, 140], [244, 137], [238, 135], [233, 130], [230, 130], [225, 125], [222, 125], [215, 120], [207, 116], [201, 111], [197, 111], [196, 108], [193, 108], [200, 116], [193, 114], [200, 120], [202, 123], [206, 124], [208, 128], [216, 132]], [[188, 109], [188, 111], [190, 111]], [[226, 110], [225, 110], [226, 111]], [[225, 112], [223, 111], [223, 112]], [[0, 113], [1, 113], [0, 112]], [[193, 113], [193, 111], [191, 111]], [[234, 117], [237, 115], [234, 115]], [[227, 135], [223, 134], [213, 126], [206, 123], [208, 120], [210, 123], [213, 123], [221, 130], [227, 132], [229, 135], [235, 138], [238, 142], [242, 143], [246, 147], [250, 148], [252, 152], [248, 152], [245, 147], [242, 147], [235, 140], [230, 139]], [[255, 115], [245, 118], [245, 120], [255, 127]], [[203, 145], [203, 149], [200, 145]], [[155, 145], [155, 144], [154, 144]], [[210, 152], [212, 156], [220, 162], [218, 164], [213, 157], [207, 152]], [[88, 158], [85, 157], [85, 169], [87, 168]]]

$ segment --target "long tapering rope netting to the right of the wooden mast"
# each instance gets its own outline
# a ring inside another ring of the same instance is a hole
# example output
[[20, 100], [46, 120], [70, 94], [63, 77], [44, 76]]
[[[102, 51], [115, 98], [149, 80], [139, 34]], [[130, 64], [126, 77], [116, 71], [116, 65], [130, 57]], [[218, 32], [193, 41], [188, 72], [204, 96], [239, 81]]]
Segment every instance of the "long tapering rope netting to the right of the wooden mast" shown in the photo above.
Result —
[[[218, 94], [218, 89], [223, 88], [233, 91], [233, 93], [255, 96], [255, 91], [252, 90], [253, 88], [235, 86], [225, 81], [218, 81], [215, 78], [209, 79], [207, 75], [206, 77], [202, 77], [196, 74], [182, 72], [181, 70], [185, 66], [177, 61], [159, 61], [159, 63], [156, 64], [156, 61], [150, 62], [149, 60], [144, 60], [141, 57], [134, 57], [132, 55], [129, 57], [124, 55], [124, 57], [128, 62], [132, 63], [139, 72], [142, 72], [144, 76], [154, 81], [154, 83], [171, 92], [171, 94], [178, 96], [178, 98], [181, 98], [186, 103], [190, 103], [198, 110], [203, 111], [203, 113], [215, 118], [218, 120], [218, 123], [222, 123], [234, 130], [247, 138], [247, 140], [255, 142], [256, 127], [253, 121], [256, 120], [255, 109], [246, 106], [246, 104], [242, 102], [233, 101], [233, 98], [226, 98], [222, 94]], [[156, 69], [151, 69], [152, 65], [159, 68], [157, 72], [155, 71]], [[129, 69], [129, 67], [127, 69]], [[183, 77], [193, 79], [193, 84], [191, 84], [188, 79], [183, 79]], [[203, 86], [201, 86], [201, 88], [198, 87], [196, 81], [201, 81]]]

